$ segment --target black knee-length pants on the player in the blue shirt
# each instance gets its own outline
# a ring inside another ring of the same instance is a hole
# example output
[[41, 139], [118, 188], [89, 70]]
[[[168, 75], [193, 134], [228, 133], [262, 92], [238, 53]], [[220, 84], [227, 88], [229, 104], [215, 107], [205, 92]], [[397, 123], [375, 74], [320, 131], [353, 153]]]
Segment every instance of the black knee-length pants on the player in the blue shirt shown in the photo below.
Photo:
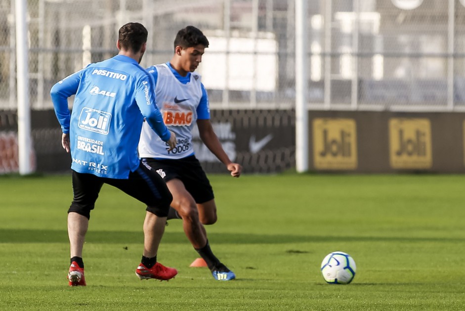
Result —
[[103, 178], [73, 171], [74, 198], [68, 213], [75, 212], [90, 219], [90, 211], [94, 209], [95, 201], [104, 183], [145, 203], [148, 212], [159, 217], [168, 215], [173, 197], [160, 175], [142, 162], [134, 172], [129, 173], [127, 179]]

